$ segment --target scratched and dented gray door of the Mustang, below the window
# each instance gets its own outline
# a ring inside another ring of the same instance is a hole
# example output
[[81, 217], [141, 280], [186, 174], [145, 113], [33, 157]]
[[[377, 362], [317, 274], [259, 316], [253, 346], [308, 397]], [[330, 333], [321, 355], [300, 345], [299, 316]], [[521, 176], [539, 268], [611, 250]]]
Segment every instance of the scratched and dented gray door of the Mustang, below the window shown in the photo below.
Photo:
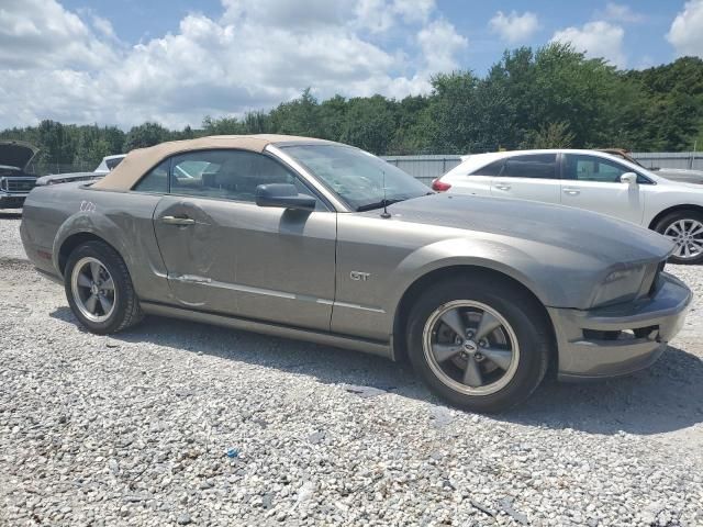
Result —
[[[194, 222], [168, 224], [165, 217]], [[334, 213], [168, 197], [155, 213], [155, 229], [179, 303], [257, 321], [330, 328]]]

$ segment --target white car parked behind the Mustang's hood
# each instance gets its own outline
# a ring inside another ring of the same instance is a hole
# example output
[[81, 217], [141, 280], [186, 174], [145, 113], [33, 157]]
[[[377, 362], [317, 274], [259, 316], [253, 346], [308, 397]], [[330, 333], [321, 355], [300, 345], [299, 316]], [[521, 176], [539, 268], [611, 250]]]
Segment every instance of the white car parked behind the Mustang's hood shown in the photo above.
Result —
[[594, 150], [465, 156], [433, 190], [556, 203], [615, 216], [671, 238], [673, 264], [703, 262], [703, 187]]

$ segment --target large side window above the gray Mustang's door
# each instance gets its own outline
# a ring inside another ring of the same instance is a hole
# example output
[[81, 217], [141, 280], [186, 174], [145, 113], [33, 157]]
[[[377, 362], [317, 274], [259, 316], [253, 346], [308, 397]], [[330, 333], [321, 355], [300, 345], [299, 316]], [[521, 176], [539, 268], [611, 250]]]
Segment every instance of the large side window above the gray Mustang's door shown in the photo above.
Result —
[[256, 187], [267, 183], [291, 183], [312, 194], [294, 173], [261, 154], [199, 150], [171, 158], [172, 194], [255, 202]]

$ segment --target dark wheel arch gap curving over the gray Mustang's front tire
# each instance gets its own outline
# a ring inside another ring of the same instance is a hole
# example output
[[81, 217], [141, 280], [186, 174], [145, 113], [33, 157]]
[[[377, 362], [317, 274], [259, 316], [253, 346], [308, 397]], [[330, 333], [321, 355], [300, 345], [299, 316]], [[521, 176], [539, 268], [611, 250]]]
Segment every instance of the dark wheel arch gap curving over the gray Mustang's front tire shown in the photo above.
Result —
[[513, 284], [515, 288], [518, 288], [527, 295], [529, 295], [532, 300], [534, 300], [535, 304], [539, 306], [540, 316], [544, 316], [549, 328], [551, 329], [551, 338], [553, 343], [555, 343], [553, 349], [555, 350], [555, 354], [553, 357], [550, 357], [551, 363], [549, 366], [549, 370], [556, 371], [558, 354], [556, 352], [556, 335], [554, 321], [549, 316], [549, 313], [545, 307], [543, 301], [539, 300], [534, 291], [532, 291], [527, 285], [515, 279], [514, 277], [511, 277], [510, 274], [498, 271], [495, 269], [477, 265], [454, 265], [434, 269], [415, 279], [415, 281], [413, 281], [410, 287], [405, 289], [403, 295], [400, 299], [400, 302], [398, 303], [398, 307], [395, 309], [393, 317], [393, 359], [397, 361], [404, 361], [406, 359], [405, 326], [408, 324], [408, 317], [415, 299], [417, 299], [417, 296], [421, 295], [422, 292], [426, 290], [426, 288], [429, 288], [433, 283], [436, 283], [437, 280], [454, 280], [457, 277], [466, 276], [467, 273], [471, 273], [472, 276], [482, 274], [487, 278], [500, 279], [501, 281], [505, 281]]

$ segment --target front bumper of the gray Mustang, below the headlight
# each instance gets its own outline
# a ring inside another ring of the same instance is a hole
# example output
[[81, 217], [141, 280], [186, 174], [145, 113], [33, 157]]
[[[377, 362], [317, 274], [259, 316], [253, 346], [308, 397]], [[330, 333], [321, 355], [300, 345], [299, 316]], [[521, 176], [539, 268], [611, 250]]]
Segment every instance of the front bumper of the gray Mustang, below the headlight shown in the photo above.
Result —
[[548, 307], [559, 380], [625, 375], [651, 366], [681, 329], [692, 298], [682, 281], [662, 272], [646, 299], [589, 311]]

